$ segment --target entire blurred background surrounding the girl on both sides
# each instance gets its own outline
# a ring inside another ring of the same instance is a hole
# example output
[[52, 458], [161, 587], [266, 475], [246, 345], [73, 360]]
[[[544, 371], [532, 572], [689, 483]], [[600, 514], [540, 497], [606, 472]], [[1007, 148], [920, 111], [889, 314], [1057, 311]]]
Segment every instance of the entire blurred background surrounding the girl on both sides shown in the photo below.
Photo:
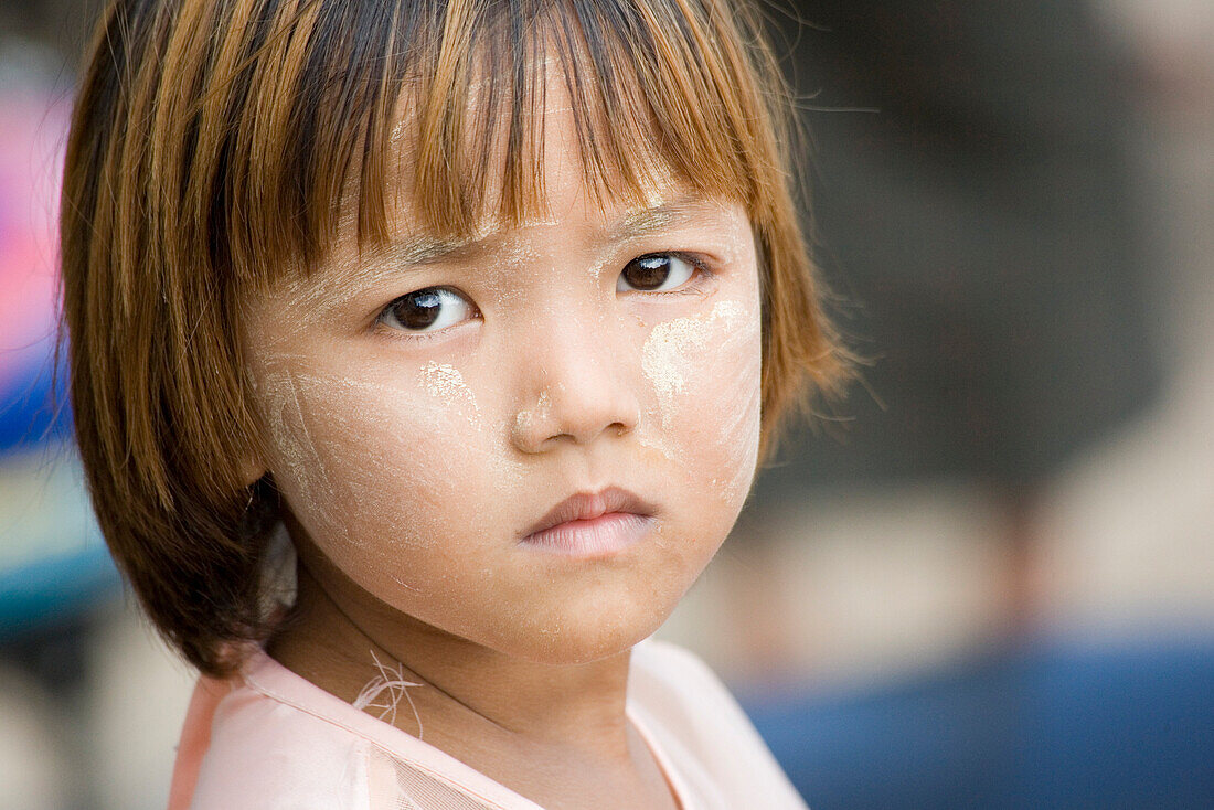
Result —
[[[96, 5], [0, 5], [0, 810], [163, 808], [193, 682], [52, 396]], [[783, 7], [862, 379], [660, 635], [816, 810], [1214, 808], [1214, 4]]]

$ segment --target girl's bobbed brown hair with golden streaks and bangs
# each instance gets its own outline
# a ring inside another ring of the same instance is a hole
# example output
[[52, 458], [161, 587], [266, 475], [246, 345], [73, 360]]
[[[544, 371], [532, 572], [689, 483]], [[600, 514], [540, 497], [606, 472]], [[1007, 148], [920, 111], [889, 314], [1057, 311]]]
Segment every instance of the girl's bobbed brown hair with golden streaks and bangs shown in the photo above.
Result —
[[[764, 453], [806, 390], [838, 383], [793, 202], [788, 90], [761, 28], [734, 0], [110, 4], [64, 171], [72, 403], [110, 550], [192, 663], [231, 672], [232, 642], [267, 631], [274, 493], [240, 476], [261, 431], [239, 301], [324, 255], [351, 187], [359, 239], [386, 238], [402, 100], [426, 225], [517, 223], [543, 202], [538, 66], [554, 53], [600, 199], [642, 199], [660, 169], [745, 204], [762, 272]], [[503, 177], [492, 199], [490, 172]]]

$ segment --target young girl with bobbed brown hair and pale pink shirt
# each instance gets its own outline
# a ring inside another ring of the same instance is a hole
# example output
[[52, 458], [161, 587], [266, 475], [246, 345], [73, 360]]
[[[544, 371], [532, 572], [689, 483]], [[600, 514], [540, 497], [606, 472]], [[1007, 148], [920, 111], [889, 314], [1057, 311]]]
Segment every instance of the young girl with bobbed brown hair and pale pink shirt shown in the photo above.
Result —
[[645, 641], [839, 378], [733, 0], [117, 0], [62, 217], [175, 808], [800, 808]]

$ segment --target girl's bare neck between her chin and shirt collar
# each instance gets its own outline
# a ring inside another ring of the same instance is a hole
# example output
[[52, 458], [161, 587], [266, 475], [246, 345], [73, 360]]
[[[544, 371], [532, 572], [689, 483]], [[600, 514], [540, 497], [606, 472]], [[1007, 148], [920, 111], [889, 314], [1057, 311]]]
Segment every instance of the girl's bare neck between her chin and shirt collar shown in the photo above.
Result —
[[416, 684], [382, 690], [367, 710], [473, 765], [500, 746], [618, 765], [639, 755], [624, 712], [629, 651], [584, 664], [523, 661], [348, 584], [328, 587], [341, 574], [325, 568], [301, 556], [291, 621], [268, 647], [325, 691], [354, 703], [385, 678]]

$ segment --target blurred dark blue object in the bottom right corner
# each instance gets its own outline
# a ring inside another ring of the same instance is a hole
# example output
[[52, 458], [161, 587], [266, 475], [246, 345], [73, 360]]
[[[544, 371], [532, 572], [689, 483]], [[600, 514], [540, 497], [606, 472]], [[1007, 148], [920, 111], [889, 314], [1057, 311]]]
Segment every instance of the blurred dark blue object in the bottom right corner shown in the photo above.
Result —
[[1042, 639], [747, 709], [813, 810], [1214, 808], [1214, 638]]

